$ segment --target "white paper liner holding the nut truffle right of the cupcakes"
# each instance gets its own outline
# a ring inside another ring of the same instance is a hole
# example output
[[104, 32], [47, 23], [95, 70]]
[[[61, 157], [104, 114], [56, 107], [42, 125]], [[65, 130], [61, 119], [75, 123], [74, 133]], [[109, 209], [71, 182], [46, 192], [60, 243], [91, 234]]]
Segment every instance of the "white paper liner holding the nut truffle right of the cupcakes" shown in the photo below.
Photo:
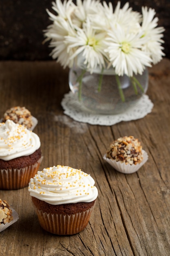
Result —
[[116, 160], [107, 158], [106, 154], [104, 155], [103, 158], [104, 160], [106, 160], [106, 162], [108, 162], [113, 168], [115, 168], [120, 173], [130, 174], [138, 171], [139, 168], [141, 168], [141, 166], [145, 164], [146, 161], [148, 160], [148, 154], [146, 153], [146, 151], [142, 150], [142, 152], [143, 152], [143, 160], [139, 164], [130, 165], [130, 164], [121, 163], [120, 161], [116, 162]]

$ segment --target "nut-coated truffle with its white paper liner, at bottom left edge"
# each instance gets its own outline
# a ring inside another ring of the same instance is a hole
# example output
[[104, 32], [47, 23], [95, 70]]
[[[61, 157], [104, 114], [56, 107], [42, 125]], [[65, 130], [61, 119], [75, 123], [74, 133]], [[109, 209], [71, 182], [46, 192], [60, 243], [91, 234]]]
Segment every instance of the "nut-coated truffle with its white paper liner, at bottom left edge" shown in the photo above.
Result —
[[0, 232], [18, 220], [18, 213], [11, 209], [6, 200], [0, 199]]

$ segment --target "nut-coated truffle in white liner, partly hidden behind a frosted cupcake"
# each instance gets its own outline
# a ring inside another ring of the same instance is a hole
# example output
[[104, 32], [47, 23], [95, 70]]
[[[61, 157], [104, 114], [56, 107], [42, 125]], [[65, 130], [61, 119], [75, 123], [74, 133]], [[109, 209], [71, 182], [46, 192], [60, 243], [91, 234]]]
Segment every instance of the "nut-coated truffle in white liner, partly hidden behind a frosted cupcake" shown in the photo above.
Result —
[[29, 130], [33, 130], [37, 124], [37, 119], [31, 115], [31, 112], [25, 107], [12, 107], [4, 112], [2, 122], [8, 119], [12, 120], [15, 124], [21, 124]]

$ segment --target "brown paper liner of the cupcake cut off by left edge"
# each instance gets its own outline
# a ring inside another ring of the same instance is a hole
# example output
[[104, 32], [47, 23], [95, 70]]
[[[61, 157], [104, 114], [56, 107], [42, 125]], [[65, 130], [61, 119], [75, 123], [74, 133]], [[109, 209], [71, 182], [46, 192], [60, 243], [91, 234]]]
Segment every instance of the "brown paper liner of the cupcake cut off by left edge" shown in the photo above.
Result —
[[0, 170], [0, 189], [15, 190], [28, 186], [30, 178], [37, 173], [42, 158], [43, 156], [35, 164], [25, 168]]

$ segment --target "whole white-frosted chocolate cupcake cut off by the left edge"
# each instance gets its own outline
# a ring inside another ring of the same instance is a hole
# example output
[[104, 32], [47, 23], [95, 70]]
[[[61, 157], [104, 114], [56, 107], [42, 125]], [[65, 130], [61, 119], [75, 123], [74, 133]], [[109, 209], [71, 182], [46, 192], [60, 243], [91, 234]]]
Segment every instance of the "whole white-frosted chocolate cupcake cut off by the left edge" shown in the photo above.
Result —
[[41, 161], [38, 135], [11, 120], [0, 123], [0, 189], [28, 186]]

